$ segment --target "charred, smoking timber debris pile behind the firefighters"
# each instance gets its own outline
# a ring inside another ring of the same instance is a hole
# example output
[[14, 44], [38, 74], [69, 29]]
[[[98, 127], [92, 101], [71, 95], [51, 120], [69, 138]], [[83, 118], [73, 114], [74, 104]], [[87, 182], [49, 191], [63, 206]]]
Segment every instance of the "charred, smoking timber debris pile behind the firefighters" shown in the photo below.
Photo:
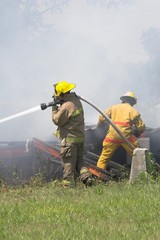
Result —
[[[96, 167], [102, 150], [102, 141], [108, 126], [86, 126], [84, 162], [91, 173], [103, 176], [104, 180], [126, 178], [131, 168], [131, 157], [123, 148], [119, 148], [108, 163], [107, 169], [100, 171]], [[160, 163], [160, 128], [146, 128], [139, 138], [140, 147], [153, 153]], [[26, 183], [33, 176], [43, 173], [45, 180], [62, 177], [60, 147], [58, 141], [42, 141], [33, 138], [30, 141], [0, 142], [0, 179], [9, 184]]]

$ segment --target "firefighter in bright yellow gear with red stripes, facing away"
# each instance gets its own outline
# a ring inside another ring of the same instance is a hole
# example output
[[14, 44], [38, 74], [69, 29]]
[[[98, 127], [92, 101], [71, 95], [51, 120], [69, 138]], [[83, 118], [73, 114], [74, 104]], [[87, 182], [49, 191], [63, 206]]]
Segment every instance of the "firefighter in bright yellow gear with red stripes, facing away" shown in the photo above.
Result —
[[[141, 115], [133, 108], [137, 103], [137, 99], [133, 92], [125, 93], [120, 99], [122, 100], [122, 103], [111, 106], [105, 110], [104, 113], [120, 129], [122, 134], [132, 143], [132, 145], [137, 148], [137, 137], [140, 136], [145, 128]], [[105, 121], [105, 118], [100, 115], [98, 124], [103, 124]], [[110, 125], [107, 135], [103, 140], [103, 149], [98, 159], [97, 166], [106, 169], [107, 162], [111, 159], [120, 145], [129, 153], [129, 155], [133, 155], [133, 150]]]

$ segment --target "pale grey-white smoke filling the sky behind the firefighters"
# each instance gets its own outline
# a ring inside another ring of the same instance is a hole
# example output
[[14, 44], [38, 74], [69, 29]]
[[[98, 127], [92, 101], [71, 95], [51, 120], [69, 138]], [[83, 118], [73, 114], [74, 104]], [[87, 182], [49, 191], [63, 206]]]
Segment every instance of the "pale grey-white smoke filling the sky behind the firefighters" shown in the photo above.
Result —
[[[0, 2], [0, 119], [50, 102], [53, 84], [105, 109], [133, 91], [147, 127], [159, 127], [158, 0]], [[83, 103], [86, 124], [98, 112]], [[0, 141], [53, 139], [51, 108], [0, 124]]]

